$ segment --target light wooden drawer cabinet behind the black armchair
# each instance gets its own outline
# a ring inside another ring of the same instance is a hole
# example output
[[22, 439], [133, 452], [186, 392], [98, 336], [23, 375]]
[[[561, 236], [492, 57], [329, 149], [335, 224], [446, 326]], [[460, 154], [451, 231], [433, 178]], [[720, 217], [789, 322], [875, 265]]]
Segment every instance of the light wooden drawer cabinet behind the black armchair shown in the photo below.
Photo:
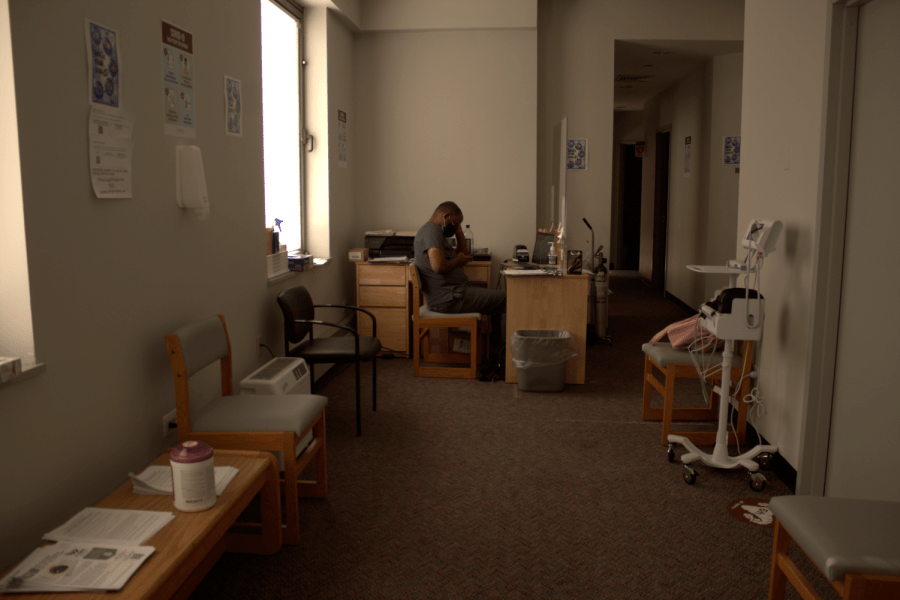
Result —
[[[409, 356], [409, 277], [407, 263], [356, 263], [356, 299], [375, 315], [382, 354]], [[360, 335], [372, 335], [367, 315], [359, 320]]]

